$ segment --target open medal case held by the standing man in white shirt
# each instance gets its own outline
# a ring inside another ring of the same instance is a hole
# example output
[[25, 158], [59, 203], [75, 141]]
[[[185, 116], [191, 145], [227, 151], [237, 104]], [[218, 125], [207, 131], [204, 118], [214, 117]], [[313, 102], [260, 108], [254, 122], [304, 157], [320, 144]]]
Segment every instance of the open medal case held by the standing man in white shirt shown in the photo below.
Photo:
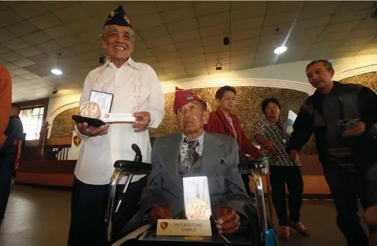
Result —
[[76, 123], [88, 123], [93, 127], [113, 122], [135, 122], [132, 113], [110, 112], [112, 103], [113, 94], [92, 90], [89, 101], [80, 106], [80, 115], [74, 115], [72, 119]]

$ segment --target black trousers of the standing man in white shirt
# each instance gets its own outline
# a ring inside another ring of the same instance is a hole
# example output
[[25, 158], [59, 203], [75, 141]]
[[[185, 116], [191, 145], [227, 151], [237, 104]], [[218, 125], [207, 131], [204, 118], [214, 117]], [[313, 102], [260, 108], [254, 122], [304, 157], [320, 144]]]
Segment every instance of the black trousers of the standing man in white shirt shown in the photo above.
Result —
[[[146, 187], [147, 176], [130, 183], [126, 198], [113, 216], [113, 238], [117, 238], [122, 227], [139, 210], [142, 189]], [[104, 221], [108, 205], [110, 185], [88, 185], [75, 177], [72, 189], [70, 231], [68, 246], [105, 246], [106, 224]], [[117, 196], [124, 185], [117, 185]]]

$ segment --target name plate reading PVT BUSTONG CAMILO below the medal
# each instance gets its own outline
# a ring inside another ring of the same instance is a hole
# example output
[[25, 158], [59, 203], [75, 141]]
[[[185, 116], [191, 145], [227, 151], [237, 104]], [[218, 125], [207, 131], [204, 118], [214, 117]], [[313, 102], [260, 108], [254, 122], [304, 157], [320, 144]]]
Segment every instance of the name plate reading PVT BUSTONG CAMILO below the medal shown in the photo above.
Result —
[[212, 236], [209, 220], [177, 220], [157, 221], [157, 236]]

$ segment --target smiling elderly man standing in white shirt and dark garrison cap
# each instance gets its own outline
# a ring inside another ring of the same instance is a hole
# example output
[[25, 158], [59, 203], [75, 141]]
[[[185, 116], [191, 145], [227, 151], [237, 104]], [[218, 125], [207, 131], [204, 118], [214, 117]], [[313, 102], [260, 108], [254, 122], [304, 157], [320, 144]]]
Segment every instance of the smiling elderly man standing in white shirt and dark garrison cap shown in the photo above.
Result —
[[[108, 50], [106, 63], [89, 72], [85, 79], [80, 105], [89, 101], [95, 90], [113, 94], [110, 112], [133, 113], [135, 123], [114, 123], [101, 127], [77, 123], [77, 135], [84, 140], [75, 168], [72, 212], [68, 245], [106, 245], [104, 216], [110, 177], [117, 160], [133, 160], [131, 149], [137, 144], [144, 162], [151, 162], [148, 127], [156, 128], [164, 116], [164, 93], [153, 68], [131, 59], [135, 32], [122, 6], [110, 12], [101, 36]], [[124, 179], [121, 183], [124, 183]], [[137, 212], [146, 176], [134, 176], [128, 186], [119, 221], [126, 223]], [[123, 185], [122, 185], [123, 186]], [[119, 187], [122, 188], [122, 187]], [[117, 221], [113, 232], [116, 234]]]

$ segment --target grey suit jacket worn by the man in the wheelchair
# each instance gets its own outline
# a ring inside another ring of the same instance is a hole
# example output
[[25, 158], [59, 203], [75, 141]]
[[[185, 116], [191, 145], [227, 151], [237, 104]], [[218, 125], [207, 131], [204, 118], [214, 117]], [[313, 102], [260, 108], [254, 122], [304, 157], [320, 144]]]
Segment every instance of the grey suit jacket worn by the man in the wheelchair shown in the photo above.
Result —
[[[173, 217], [184, 212], [183, 184], [177, 170], [181, 141], [181, 133], [156, 139], [150, 183], [140, 201], [142, 215], [158, 205], [168, 207]], [[252, 201], [238, 172], [238, 158], [235, 139], [204, 132], [202, 169], [197, 175], [208, 177], [213, 215], [217, 207], [229, 206], [247, 218], [244, 206]]]

